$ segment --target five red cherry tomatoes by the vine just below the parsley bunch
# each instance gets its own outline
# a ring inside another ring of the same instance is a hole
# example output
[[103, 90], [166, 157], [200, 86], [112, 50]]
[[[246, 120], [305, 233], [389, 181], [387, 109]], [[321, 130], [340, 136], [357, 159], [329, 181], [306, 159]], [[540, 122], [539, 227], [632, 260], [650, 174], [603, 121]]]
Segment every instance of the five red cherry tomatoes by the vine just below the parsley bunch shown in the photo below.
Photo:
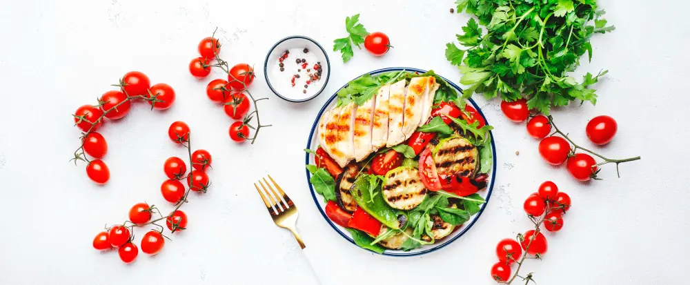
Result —
[[[527, 101], [520, 99], [513, 102], [502, 101], [501, 110], [508, 119], [520, 123], [529, 118]], [[585, 131], [589, 140], [596, 145], [608, 144], [618, 124], [612, 117], [594, 117], [587, 124]], [[567, 139], [551, 133], [551, 121], [544, 115], [536, 115], [527, 121], [527, 132], [535, 139], [540, 139], [539, 153], [546, 162], [554, 166], [566, 163], [569, 173], [580, 181], [589, 181], [598, 173], [599, 164], [588, 153], [575, 153]]]

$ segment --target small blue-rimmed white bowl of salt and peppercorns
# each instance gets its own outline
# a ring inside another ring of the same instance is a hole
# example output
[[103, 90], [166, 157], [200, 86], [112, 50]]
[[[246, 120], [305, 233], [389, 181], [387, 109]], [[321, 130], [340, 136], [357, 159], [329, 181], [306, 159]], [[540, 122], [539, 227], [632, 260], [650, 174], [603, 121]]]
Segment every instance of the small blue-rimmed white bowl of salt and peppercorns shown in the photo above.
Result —
[[[304, 48], [308, 49], [308, 53], [302, 51]], [[286, 50], [292, 51], [284, 59], [284, 71], [281, 72], [279, 70], [279, 59]], [[321, 79], [307, 84], [308, 88], [303, 88], [307, 79], [306, 75], [304, 75], [306, 70], [302, 70], [295, 62], [296, 59], [303, 57], [310, 57], [311, 61], [313, 61], [309, 62], [310, 60], [307, 60], [307, 68], [313, 68], [317, 62], [321, 63], [319, 66], [322, 68]], [[302, 70], [301, 76], [299, 79], [295, 79], [296, 85], [292, 86], [290, 80], [293, 78], [293, 75], [298, 73], [297, 68]], [[264, 61], [264, 78], [266, 78], [268, 88], [278, 97], [290, 102], [304, 102], [317, 97], [326, 88], [329, 77], [331, 77], [331, 62], [328, 61], [326, 50], [313, 39], [304, 36], [291, 36], [281, 39], [273, 45], [273, 48], [268, 50], [266, 61]], [[306, 93], [304, 93], [304, 90], [306, 90]]]

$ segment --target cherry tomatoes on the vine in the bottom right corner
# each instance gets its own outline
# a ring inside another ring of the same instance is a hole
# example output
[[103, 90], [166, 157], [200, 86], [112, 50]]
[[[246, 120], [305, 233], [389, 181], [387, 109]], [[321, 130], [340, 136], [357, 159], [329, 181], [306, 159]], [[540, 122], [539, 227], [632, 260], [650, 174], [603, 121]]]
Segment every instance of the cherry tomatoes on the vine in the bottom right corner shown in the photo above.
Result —
[[[550, 232], [563, 228], [563, 215], [570, 209], [570, 196], [559, 192], [558, 186], [546, 181], [524, 201], [524, 211], [537, 225], [535, 230], [528, 230], [515, 239], [502, 239], [496, 246], [498, 262], [491, 267], [491, 277], [497, 282], [507, 282], [511, 278], [511, 266], [521, 262], [522, 250], [527, 255], [541, 256], [546, 253], [546, 237], [540, 233], [540, 224]], [[543, 215], [543, 216], [542, 216]], [[541, 223], [540, 223], [541, 222]]]

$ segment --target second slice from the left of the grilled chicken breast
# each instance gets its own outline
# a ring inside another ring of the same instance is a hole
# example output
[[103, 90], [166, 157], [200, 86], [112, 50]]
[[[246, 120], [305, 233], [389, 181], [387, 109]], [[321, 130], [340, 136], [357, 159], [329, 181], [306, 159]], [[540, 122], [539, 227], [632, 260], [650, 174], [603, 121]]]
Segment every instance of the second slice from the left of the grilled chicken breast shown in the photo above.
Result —
[[356, 161], [362, 161], [373, 150], [371, 147], [371, 128], [373, 123], [376, 96], [372, 96], [355, 111], [355, 123], [353, 126], [353, 144], [355, 145], [354, 157]]

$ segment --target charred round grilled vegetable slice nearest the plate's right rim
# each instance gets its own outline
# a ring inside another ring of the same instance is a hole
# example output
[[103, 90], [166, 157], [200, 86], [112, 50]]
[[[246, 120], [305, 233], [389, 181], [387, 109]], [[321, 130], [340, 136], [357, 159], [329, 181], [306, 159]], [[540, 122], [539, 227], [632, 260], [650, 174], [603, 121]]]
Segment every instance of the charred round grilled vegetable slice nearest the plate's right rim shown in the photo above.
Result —
[[464, 137], [451, 137], [435, 147], [434, 161], [439, 175], [472, 177], [479, 168], [479, 151]]

